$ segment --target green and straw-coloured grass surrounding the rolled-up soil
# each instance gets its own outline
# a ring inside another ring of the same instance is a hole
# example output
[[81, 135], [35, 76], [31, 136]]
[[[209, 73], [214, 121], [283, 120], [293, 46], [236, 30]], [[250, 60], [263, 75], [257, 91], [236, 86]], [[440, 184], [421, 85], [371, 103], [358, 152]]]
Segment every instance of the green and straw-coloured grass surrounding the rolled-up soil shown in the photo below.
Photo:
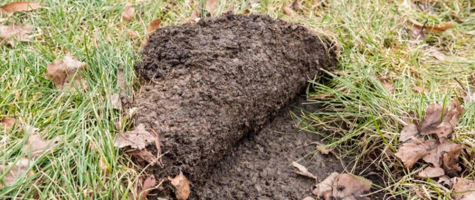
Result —
[[[359, 166], [376, 167], [385, 182], [379, 186], [386, 197], [413, 199], [424, 193], [451, 199], [449, 188], [413, 179], [411, 174], [420, 168], [402, 168], [391, 152], [409, 111], [423, 116], [427, 104], [462, 95], [453, 77], [467, 84], [475, 71], [474, 36], [470, 33], [475, 29], [475, 14], [469, 11], [475, 4], [441, 1], [442, 11], [427, 13], [407, 9], [403, 0], [333, 0], [323, 3], [325, 6], [312, 0], [300, 2], [305, 8], [293, 17], [282, 13], [282, 6], [291, 4], [284, 0], [261, 0], [253, 11], [300, 22], [330, 38], [338, 48], [338, 69], [325, 71], [328, 78], [320, 82], [311, 82], [315, 92], [308, 94], [310, 103], [322, 103], [326, 109], [303, 113], [312, 121], [304, 129], [317, 134], [322, 134], [322, 129], [332, 132], [322, 135], [328, 146], [337, 147], [355, 161], [350, 172], [364, 174], [369, 171]], [[139, 44], [148, 22], [160, 18], [160, 26], [180, 24], [200, 3], [137, 1], [132, 3], [136, 9], [133, 20], [120, 22], [124, 3], [118, 0], [42, 0], [43, 8], [15, 13], [2, 22], [31, 24], [36, 36], [31, 42], [0, 46], [0, 116], [14, 116], [39, 128], [43, 138], [62, 135], [63, 145], [33, 159], [30, 169], [34, 175], [2, 187], [1, 198], [128, 199], [141, 170], [112, 144], [119, 112], [111, 108], [107, 96], [118, 90], [117, 68], [123, 67], [127, 83], [137, 86], [133, 64], [140, 59]], [[217, 13], [231, 5], [243, 11], [240, 5], [247, 1], [221, 3]], [[405, 28], [407, 16], [438, 24], [451, 15], [464, 22], [444, 33], [428, 34], [422, 42], [411, 40]], [[131, 40], [125, 29], [136, 30], [141, 37]], [[58, 91], [43, 77], [46, 66], [67, 49], [87, 63], [86, 92]], [[429, 55], [435, 49], [445, 54], [444, 61]], [[379, 83], [380, 75], [392, 81], [394, 94]], [[417, 94], [411, 91], [415, 85], [430, 92]], [[452, 140], [473, 149], [475, 105], [464, 106], [467, 110]], [[124, 124], [122, 130], [129, 125]], [[28, 156], [22, 151], [26, 139], [19, 127], [0, 132], [1, 164]], [[463, 176], [472, 177], [473, 161], [467, 160], [464, 166]]]

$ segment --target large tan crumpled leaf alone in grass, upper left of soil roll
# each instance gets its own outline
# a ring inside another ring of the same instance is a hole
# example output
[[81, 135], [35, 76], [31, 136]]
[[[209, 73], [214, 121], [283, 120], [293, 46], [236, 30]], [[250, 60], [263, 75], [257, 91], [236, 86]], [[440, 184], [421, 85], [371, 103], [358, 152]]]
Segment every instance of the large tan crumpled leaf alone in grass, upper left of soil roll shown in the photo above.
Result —
[[59, 90], [71, 90], [74, 85], [80, 89], [87, 88], [87, 82], [82, 73], [86, 69], [86, 63], [72, 57], [68, 52], [62, 59], [56, 59], [46, 68], [44, 77], [52, 80]]

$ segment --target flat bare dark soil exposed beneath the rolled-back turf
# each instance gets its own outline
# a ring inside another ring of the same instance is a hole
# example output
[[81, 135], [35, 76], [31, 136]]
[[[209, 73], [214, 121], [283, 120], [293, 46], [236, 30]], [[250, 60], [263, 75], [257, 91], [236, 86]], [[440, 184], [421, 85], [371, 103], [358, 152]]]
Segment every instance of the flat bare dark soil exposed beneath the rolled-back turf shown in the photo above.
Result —
[[[315, 104], [303, 105], [302, 98], [292, 104], [315, 111]], [[300, 113], [299, 109], [291, 109]], [[319, 138], [313, 133], [296, 132], [289, 110], [283, 109], [264, 128], [243, 138], [214, 167], [204, 181], [193, 185], [192, 199], [303, 199], [311, 196], [315, 181], [292, 172], [288, 166], [315, 149]], [[308, 145], [307, 145], [308, 144]], [[311, 154], [298, 163], [319, 180], [331, 172], [341, 172], [341, 163], [332, 155]], [[315, 196], [313, 196], [315, 197]]]

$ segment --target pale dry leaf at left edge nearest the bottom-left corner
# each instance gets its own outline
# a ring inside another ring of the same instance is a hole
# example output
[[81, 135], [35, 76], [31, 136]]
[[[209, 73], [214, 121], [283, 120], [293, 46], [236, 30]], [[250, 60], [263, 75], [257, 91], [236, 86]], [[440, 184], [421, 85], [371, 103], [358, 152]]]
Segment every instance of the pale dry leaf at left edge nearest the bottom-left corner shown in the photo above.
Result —
[[[5, 186], [10, 186], [14, 184], [19, 179], [24, 179], [28, 176], [34, 175], [34, 172], [28, 170], [28, 166], [32, 165], [32, 161], [27, 158], [20, 158], [16, 163], [7, 163], [6, 165], [0, 165], [0, 174], [5, 174], [3, 176], [3, 181]], [[11, 167], [9, 171], [8, 168]], [[0, 188], [3, 185], [0, 182]]]

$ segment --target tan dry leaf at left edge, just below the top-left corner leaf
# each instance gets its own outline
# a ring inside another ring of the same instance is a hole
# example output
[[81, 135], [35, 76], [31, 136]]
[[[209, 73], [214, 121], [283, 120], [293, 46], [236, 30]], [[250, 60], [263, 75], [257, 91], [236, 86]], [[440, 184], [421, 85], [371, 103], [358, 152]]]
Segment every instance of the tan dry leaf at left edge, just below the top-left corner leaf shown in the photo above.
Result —
[[0, 25], [1, 43], [8, 41], [11, 46], [15, 45], [15, 41], [30, 41], [30, 34], [33, 32], [33, 26], [27, 24], [10, 23], [9, 25]]

